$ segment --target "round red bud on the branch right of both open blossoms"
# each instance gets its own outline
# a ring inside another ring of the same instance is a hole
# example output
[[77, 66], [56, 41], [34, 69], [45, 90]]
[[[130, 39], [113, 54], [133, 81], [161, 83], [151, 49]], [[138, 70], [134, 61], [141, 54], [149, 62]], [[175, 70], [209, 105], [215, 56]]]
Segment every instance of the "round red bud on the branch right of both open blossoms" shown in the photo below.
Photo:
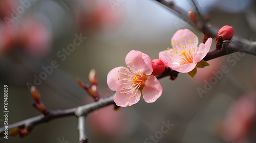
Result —
[[234, 35], [234, 30], [230, 26], [224, 26], [219, 31], [217, 36], [222, 37], [222, 40], [230, 40]]

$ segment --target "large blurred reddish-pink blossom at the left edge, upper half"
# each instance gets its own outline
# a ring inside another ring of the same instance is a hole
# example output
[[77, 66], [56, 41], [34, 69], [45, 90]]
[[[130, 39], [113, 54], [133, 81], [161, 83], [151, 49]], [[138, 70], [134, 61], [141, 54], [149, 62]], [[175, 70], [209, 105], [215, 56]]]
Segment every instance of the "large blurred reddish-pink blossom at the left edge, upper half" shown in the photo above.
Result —
[[0, 25], [1, 54], [20, 48], [32, 57], [41, 58], [48, 55], [51, 45], [51, 32], [34, 17], [23, 19], [21, 25]]

